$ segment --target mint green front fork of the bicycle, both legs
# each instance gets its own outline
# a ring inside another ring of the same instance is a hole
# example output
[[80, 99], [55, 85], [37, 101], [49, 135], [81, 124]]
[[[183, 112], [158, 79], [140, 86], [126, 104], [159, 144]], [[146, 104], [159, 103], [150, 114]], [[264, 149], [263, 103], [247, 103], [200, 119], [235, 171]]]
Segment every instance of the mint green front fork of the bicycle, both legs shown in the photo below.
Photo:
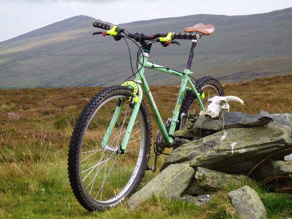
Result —
[[[129, 99], [129, 104], [131, 105], [130, 108], [132, 108], [132, 114], [131, 114], [131, 117], [130, 117], [130, 120], [128, 122], [128, 127], [127, 127], [127, 130], [125, 132], [125, 136], [124, 136], [124, 139], [123, 139], [123, 143], [120, 145], [120, 148], [117, 149], [117, 153], [121, 153], [123, 154], [126, 150], [126, 147], [127, 147], [127, 144], [128, 144], [128, 140], [129, 140], [129, 137], [131, 135], [131, 132], [132, 132], [132, 129], [134, 127], [134, 124], [135, 124], [135, 120], [136, 120], [136, 117], [138, 115], [138, 112], [139, 112], [139, 109], [140, 109], [140, 105], [142, 103], [142, 97], [143, 97], [143, 91], [141, 89], [141, 86], [140, 84], [136, 83], [136, 86], [138, 88], [138, 92], [137, 92], [137, 96], [135, 97], [134, 95]], [[120, 101], [120, 102], [119, 102]], [[117, 108], [111, 118], [111, 121], [110, 121], [110, 125], [107, 129], [107, 132], [104, 136], [104, 139], [102, 141], [102, 148], [104, 148], [105, 146], [107, 146], [108, 142], [109, 142], [109, 139], [110, 139], [110, 135], [112, 133], [112, 130], [121, 114], [121, 111], [122, 111], [122, 108], [124, 106], [124, 104], [127, 104], [125, 103], [126, 100], [117, 100]], [[126, 116], [126, 115], [125, 115]]]

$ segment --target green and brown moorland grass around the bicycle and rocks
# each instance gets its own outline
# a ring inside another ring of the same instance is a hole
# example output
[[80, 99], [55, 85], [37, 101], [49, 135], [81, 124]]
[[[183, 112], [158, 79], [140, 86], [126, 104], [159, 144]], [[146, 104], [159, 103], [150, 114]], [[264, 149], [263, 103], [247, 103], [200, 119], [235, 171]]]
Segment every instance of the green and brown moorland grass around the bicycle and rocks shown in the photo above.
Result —
[[[0, 218], [237, 218], [228, 191], [219, 191], [201, 207], [153, 197], [137, 211], [128, 210], [125, 203], [105, 212], [84, 210], [69, 185], [67, 150], [79, 113], [101, 89], [0, 90]], [[225, 84], [224, 89], [226, 95], [246, 103], [231, 103], [231, 110], [292, 113], [292, 75]], [[171, 116], [178, 90], [178, 86], [151, 87], [164, 121]], [[159, 165], [164, 158], [159, 158]], [[148, 171], [142, 185], [156, 174]], [[291, 217], [291, 195], [250, 186], [259, 193], [269, 218]]]

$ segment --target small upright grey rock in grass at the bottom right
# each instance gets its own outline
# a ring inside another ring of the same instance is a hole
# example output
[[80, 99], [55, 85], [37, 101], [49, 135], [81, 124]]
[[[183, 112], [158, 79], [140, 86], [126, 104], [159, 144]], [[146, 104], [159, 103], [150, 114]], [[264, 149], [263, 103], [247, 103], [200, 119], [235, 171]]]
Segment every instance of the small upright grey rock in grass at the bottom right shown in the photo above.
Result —
[[242, 219], [266, 219], [267, 210], [256, 191], [248, 186], [243, 186], [228, 193], [229, 198]]

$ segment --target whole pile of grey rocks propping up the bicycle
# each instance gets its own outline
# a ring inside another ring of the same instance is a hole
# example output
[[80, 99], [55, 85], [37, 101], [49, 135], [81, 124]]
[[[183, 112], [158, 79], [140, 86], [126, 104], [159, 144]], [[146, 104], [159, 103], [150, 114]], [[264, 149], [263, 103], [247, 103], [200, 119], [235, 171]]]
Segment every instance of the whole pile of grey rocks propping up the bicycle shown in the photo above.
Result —
[[[175, 149], [161, 173], [128, 200], [131, 208], [152, 195], [183, 196], [199, 204], [196, 196], [206, 200], [232, 186], [239, 188], [229, 193], [239, 217], [249, 218], [244, 216], [248, 209], [251, 214], [258, 212], [253, 218], [266, 218], [256, 191], [244, 185], [257, 181], [270, 191], [292, 191], [292, 114], [226, 112], [216, 119], [199, 117], [174, 137]], [[245, 199], [250, 201], [238, 204]]]

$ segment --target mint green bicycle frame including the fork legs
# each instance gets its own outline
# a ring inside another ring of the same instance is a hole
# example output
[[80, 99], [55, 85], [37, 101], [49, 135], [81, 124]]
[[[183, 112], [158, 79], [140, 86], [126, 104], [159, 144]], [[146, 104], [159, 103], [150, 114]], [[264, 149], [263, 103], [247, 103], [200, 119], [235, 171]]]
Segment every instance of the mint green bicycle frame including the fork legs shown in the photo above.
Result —
[[[198, 101], [199, 101], [199, 104], [201, 106], [201, 109], [204, 110], [204, 107], [202, 105], [202, 102], [201, 102], [201, 97], [200, 97], [200, 94], [199, 92], [196, 90], [194, 84], [192, 83], [189, 75], [192, 74], [192, 72], [190, 72], [190, 70], [188, 69], [185, 69], [183, 71], [183, 73], [181, 72], [177, 72], [175, 70], [170, 70], [168, 68], [165, 68], [164, 66], [160, 66], [160, 65], [157, 65], [157, 64], [154, 64], [154, 63], [150, 63], [148, 62], [148, 55], [147, 53], [144, 53], [144, 55], [141, 57], [141, 60], [140, 60], [140, 63], [143, 64], [142, 66], [140, 65], [139, 66], [139, 73], [136, 74], [136, 78], [135, 78], [135, 82], [138, 86], [138, 89], [139, 89], [139, 92], [138, 92], [138, 96], [139, 96], [139, 99], [138, 99], [138, 102], [135, 103], [135, 107], [132, 111], [132, 115], [130, 117], [130, 120], [128, 122], [128, 127], [127, 127], [127, 130], [126, 130], [126, 134], [124, 136], [124, 140], [123, 140], [123, 143], [122, 143], [122, 150], [125, 150], [127, 148], [127, 144], [128, 144], [128, 139], [130, 137], [130, 134], [131, 134], [131, 131], [132, 131], [132, 128], [134, 126], [134, 123], [135, 123], [135, 119], [137, 117], [137, 114], [138, 114], [138, 111], [139, 111], [139, 108], [140, 108], [140, 105], [141, 105], [141, 102], [142, 102], [142, 97], [143, 97], [143, 92], [145, 93], [145, 96], [147, 98], [147, 101], [150, 105], [150, 108], [153, 112], [153, 114], [155, 115], [155, 121], [161, 131], [161, 134], [162, 134], [162, 137], [163, 137], [163, 140], [164, 140], [164, 144], [167, 145], [167, 146], [172, 146], [173, 144], [173, 138], [171, 137], [175, 131], [175, 128], [176, 128], [176, 125], [177, 123], [179, 122], [178, 120], [178, 116], [179, 116], [179, 112], [180, 112], [180, 109], [181, 109], [181, 105], [182, 105], [182, 102], [183, 102], [183, 98], [184, 98], [184, 95], [185, 95], [185, 91], [186, 90], [191, 90], [195, 93]], [[159, 72], [163, 72], [163, 73], [168, 73], [168, 74], [172, 74], [172, 75], [176, 75], [178, 77], [181, 77], [182, 78], [182, 83], [181, 83], [181, 88], [180, 88], [180, 91], [179, 91], [179, 95], [178, 95], [178, 98], [177, 98], [177, 102], [176, 102], [176, 106], [175, 106], [175, 110], [174, 110], [174, 113], [173, 113], [173, 116], [171, 118], [171, 124], [170, 124], [170, 129], [169, 129], [169, 132], [167, 133], [165, 127], [164, 127], [164, 122], [160, 116], [160, 113], [156, 107], [156, 104], [155, 104], [155, 101], [153, 99], [153, 96], [151, 94], [151, 91], [149, 89], [149, 86], [146, 82], [146, 78], [144, 76], [144, 72], [145, 72], [145, 68], [148, 68], [148, 69], [153, 69], [153, 70], [156, 70], [156, 71], [159, 71]], [[189, 87], [187, 86], [189, 85]], [[111, 122], [110, 122], [110, 125], [109, 125], [109, 128], [106, 132], [106, 135], [103, 139], [103, 142], [102, 142], [102, 147], [106, 146], [108, 144], [108, 140], [110, 138], [110, 134], [111, 134], [111, 130], [113, 129], [119, 115], [120, 115], [120, 112], [121, 112], [121, 107], [123, 106], [125, 100], [123, 101], [123, 103], [121, 104], [120, 107], [117, 107], [116, 108], [116, 111], [111, 119]]]

